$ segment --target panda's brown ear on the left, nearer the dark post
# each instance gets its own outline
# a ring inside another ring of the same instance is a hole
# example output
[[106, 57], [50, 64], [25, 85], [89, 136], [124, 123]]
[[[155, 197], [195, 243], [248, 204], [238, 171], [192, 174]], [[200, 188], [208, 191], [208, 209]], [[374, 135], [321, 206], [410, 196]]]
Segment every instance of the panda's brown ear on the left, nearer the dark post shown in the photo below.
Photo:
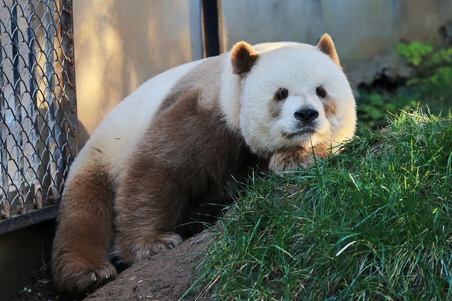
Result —
[[231, 50], [231, 64], [234, 74], [244, 75], [251, 71], [251, 68], [259, 58], [259, 53], [247, 42], [239, 42]]

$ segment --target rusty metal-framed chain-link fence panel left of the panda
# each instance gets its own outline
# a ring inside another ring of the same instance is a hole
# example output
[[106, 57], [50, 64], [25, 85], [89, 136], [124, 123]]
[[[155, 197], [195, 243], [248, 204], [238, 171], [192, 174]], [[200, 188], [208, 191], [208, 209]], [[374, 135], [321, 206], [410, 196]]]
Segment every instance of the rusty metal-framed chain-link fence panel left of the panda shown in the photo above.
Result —
[[0, 0], [0, 233], [57, 212], [77, 153], [72, 30], [71, 0]]

